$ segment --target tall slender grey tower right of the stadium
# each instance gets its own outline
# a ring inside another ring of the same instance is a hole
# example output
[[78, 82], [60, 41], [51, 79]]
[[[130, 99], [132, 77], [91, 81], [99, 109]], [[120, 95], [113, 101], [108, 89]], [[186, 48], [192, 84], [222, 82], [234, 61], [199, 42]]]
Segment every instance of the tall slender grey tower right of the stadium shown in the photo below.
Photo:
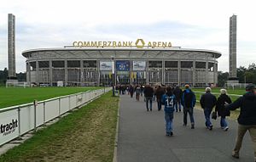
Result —
[[230, 80], [237, 80], [236, 74], [236, 15], [230, 17]]

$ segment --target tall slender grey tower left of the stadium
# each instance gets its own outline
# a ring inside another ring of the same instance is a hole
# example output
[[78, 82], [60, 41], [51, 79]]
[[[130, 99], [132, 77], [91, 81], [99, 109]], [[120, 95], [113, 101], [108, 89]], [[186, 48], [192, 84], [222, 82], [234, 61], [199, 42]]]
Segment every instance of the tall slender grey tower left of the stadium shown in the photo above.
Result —
[[15, 15], [8, 14], [8, 76], [16, 77], [15, 66]]

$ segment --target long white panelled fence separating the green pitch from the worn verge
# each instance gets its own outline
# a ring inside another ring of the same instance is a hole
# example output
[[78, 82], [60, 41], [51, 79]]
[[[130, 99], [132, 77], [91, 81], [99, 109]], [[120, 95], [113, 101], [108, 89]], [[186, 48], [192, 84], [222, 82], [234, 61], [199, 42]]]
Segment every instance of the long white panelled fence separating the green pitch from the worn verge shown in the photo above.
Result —
[[79, 92], [72, 95], [51, 98], [38, 104], [27, 103], [0, 109], [0, 146], [28, 131], [36, 130], [38, 126], [53, 120], [67, 111], [108, 92], [112, 87], [89, 92]]

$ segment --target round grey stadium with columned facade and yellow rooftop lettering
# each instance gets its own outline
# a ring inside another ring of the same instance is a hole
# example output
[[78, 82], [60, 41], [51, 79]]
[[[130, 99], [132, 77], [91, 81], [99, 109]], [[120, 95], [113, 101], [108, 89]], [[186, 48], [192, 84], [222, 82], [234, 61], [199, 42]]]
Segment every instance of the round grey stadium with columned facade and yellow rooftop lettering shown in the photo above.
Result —
[[118, 42], [106, 47], [103, 43], [26, 50], [22, 52], [26, 81], [47, 86], [57, 86], [58, 82], [63, 86], [109, 86], [114, 67], [116, 84], [206, 87], [217, 83], [221, 53], [216, 51], [160, 47], [164, 43], [157, 42], [150, 42], [149, 47], [142, 39], [134, 47], [118, 47]]

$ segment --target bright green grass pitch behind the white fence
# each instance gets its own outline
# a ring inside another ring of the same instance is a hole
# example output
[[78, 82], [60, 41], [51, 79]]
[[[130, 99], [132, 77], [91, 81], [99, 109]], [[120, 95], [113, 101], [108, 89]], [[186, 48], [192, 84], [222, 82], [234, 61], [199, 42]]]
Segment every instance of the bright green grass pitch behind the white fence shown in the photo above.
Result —
[[22, 103], [32, 103], [34, 99], [42, 101], [96, 88], [98, 87], [0, 87], [0, 109]]

